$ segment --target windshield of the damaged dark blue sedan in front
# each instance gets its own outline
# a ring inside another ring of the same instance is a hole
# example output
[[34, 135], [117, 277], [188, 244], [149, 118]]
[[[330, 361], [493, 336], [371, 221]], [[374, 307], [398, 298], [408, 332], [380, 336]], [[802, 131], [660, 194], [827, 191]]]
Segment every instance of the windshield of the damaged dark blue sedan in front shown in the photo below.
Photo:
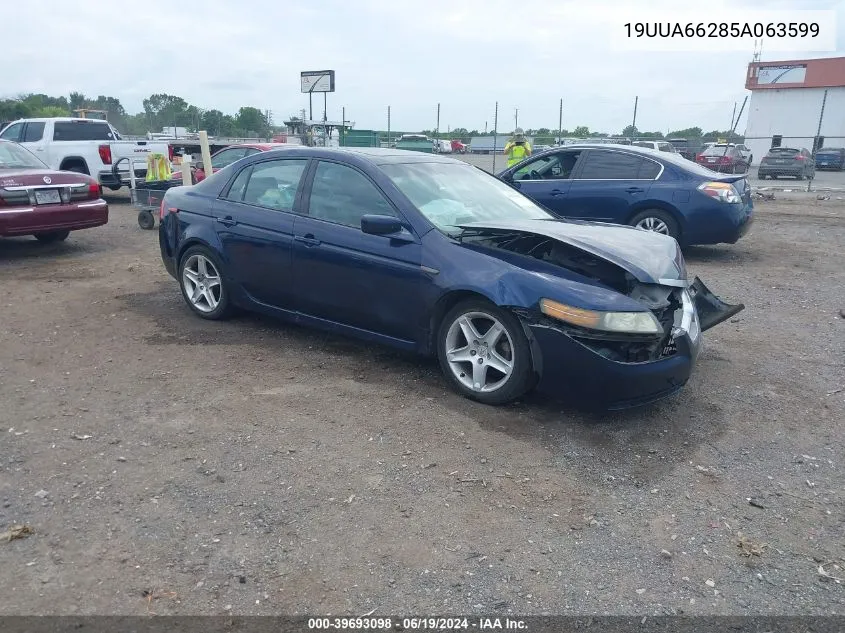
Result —
[[444, 233], [459, 233], [458, 225], [472, 222], [554, 217], [498, 178], [470, 165], [395, 163], [381, 168]]

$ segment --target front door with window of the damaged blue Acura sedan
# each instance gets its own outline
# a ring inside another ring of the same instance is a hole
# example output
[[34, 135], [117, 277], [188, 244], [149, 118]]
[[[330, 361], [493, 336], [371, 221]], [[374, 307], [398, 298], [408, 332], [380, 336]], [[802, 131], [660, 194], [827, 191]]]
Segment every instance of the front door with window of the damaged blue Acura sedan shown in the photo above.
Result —
[[[306, 215], [294, 225], [294, 277], [303, 315], [415, 341], [420, 334], [422, 247], [401, 213], [358, 169], [321, 160], [311, 169]], [[368, 214], [399, 217], [401, 235], [361, 231]]]

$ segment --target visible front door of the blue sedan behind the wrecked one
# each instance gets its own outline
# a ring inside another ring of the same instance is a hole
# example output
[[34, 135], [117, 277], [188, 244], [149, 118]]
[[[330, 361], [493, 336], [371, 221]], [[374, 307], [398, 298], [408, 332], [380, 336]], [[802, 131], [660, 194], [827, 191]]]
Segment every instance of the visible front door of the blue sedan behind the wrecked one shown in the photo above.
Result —
[[508, 183], [559, 216], [569, 213], [569, 188], [580, 150], [561, 150], [527, 162], [508, 178]]

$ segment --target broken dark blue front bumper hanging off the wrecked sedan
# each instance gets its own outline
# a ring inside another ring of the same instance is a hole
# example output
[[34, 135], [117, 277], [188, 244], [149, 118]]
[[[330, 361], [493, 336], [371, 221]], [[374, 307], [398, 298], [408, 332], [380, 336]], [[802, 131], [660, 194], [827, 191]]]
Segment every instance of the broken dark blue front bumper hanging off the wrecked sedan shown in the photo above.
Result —
[[655, 314], [661, 337], [585, 332], [547, 317], [526, 318], [537, 389], [604, 410], [660, 400], [686, 385], [701, 347], [701, 332], [744, 309], [716, 297], [696, 278], [677, 290], [671, 312]]

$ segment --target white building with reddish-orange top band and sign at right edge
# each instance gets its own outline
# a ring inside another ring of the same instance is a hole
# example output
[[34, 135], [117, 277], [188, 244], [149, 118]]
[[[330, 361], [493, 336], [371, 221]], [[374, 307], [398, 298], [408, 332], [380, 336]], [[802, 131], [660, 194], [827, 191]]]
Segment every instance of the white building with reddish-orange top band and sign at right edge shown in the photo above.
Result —
[[752, 62], [745, 87], [751, 91], [745, 144], [752, 164], [778, 145], [845, 147], [845, 57]]

